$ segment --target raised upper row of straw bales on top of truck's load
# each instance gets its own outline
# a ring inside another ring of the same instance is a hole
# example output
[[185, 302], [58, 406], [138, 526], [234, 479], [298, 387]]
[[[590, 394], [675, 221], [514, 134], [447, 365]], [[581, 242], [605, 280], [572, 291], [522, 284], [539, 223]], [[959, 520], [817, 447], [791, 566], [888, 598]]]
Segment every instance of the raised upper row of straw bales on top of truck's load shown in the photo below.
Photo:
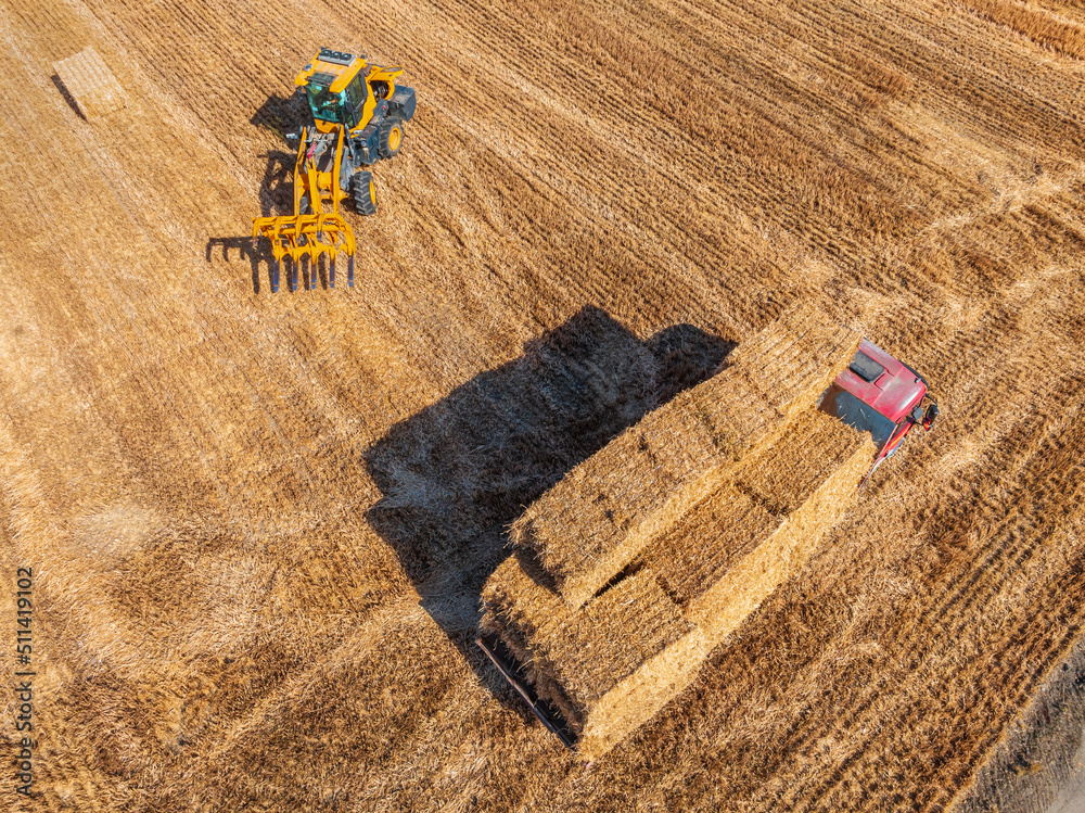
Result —
[[[851, 361], [860, 335], [796, 308], [754, 336], [735, 363], [649, 414], [585, 460], [513, 523], [561, 597], [579, 607], [812, 408]], [[740, 347], [740, 350], [742, 350]]]

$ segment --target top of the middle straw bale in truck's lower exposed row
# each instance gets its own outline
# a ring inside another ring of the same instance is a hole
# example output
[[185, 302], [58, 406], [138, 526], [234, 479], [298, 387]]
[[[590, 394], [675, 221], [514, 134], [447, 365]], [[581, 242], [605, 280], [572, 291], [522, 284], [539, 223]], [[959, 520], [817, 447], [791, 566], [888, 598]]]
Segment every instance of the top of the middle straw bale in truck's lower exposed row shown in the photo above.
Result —
[[686, 606], [767, 538], [781, 521], [762, 503], [726, 485], [655, 539], [644, 552], [644, 561], [667, 595]]

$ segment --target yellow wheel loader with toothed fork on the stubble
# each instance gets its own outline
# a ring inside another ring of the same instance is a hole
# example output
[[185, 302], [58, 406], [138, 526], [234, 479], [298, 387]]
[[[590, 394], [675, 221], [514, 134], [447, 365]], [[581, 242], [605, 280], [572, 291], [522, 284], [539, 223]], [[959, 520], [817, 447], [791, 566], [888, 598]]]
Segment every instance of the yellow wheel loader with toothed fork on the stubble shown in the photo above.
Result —
[[271, 242], [272, 292], [288, 256], [291, 291], [297, 290], [302, 257], [309, 258], [308, 288], [316, 288], [321, 254], [329, 257], [328, 282], [334, 288], [340, 252], [347, 256], [347, 284], [354, 287], [354, 231], [340, 203], [350, 199], [360, 214], [376, 212], [373, 175], [366, 167], [399, 152], [405, 124], [414, 115], [413, 88], [396, 84], [401, 74], [401, 67], [370, 65], [363, 54], [321, 48], [294, 79], [312, 114], [311, 127], [286, 136], [298, 142], [294, 214], [253, 219], [253, 241]]

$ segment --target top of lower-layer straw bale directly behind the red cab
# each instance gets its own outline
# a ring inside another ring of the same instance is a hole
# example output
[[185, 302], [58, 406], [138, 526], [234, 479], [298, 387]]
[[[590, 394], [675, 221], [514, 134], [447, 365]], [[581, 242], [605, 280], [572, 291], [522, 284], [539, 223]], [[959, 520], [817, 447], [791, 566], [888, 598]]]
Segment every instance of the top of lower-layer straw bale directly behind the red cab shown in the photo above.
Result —
[[863, 439], [861, 432], [839, 419], [807, 410], [788, 423], [771, 447], [743, 462], [738, 487], [773, 513], [791, 513], [854, 454]]

